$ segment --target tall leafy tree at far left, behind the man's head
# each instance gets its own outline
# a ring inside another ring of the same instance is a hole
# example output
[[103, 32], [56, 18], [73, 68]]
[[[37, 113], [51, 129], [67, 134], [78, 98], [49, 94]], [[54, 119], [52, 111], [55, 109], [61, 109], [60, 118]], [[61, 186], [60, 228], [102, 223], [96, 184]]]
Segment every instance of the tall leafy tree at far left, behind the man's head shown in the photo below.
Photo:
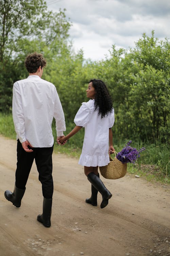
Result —
[[57, 56], [67, 45], [71, 24], [64, 11], [47, 11], [43, 0], [0, 1], [0, 111], [10, 109], [13, 82], [26, 75], [28, 53], [48, 48]]

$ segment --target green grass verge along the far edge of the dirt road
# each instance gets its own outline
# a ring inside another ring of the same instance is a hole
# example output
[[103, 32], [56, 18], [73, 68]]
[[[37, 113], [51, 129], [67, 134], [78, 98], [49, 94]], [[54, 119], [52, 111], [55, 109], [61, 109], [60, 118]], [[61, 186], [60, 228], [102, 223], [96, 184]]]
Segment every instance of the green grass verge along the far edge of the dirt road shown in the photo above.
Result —
[[[67, 123], [67, 133], [69, 133], [74, 125]], [[60, 146], [56, 143], [56, 130], [55, 122], [53, 120], [53, 136], [54, 136], [54, 152], [65, 153], [69, 156], [80, 157], [81, 148], [83, 145], [84, 129], [81, 129], [74, 137], [70, 138], [66, 145]], [[0, 113], [0, 134], [11, 139], [16, 139], [16, 133], [14, 130], [12, 114]], [[66, 132], [65, 132], [66, 134]], [[114, 148], [116, 152], [122, 150], [126, 140], [114, 142]], [[133, 141], [133, 145], [136, 148], [141, 148], [143, 142]], [[128, 163], [128, 171], [130, 173], [136, 173], [143, 175], [149, 179], [162, 180], [163, 182], [170, 182], [170, 148], [167, 143], [161, 144], [156, 141], [154, 144], [146, 143], [146, 150], [142, 152], [139, 158], [137, 158], [134, 165]], [[143, 173], [143, 174], [142, 174]]]

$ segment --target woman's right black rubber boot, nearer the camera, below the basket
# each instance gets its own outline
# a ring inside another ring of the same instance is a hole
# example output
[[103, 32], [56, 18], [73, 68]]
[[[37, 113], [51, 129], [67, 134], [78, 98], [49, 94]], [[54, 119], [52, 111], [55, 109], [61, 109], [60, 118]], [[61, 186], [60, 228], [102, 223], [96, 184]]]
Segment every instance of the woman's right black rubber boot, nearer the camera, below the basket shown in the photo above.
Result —
[[112, 197], [112, 194], [107, 190], [103, 182], [94, 172], [90, 172], [87, 175], [87, 179], [102, 195], [102, 202], [100, 204], [100, 207], [106, 207], [108, 204], [108, 199]]

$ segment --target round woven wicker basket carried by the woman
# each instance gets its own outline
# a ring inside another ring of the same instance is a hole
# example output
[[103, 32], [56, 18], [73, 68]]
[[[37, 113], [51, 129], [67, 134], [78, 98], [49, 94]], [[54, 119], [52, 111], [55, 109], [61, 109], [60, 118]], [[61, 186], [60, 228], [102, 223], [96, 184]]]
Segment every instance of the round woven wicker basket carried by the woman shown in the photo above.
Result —
[[127, 163], [122, 163], [116, 158], [116, 152], [115, 153], [115, 158], [112, 159], [112, 157], [109, 155], [110, 162], [106, 166], [100, 166], [100, 172], [101, 175], [105, 179], [110, 179], [110, 180], [116, 180], [124, 177], [124, 175], [127, 172]]

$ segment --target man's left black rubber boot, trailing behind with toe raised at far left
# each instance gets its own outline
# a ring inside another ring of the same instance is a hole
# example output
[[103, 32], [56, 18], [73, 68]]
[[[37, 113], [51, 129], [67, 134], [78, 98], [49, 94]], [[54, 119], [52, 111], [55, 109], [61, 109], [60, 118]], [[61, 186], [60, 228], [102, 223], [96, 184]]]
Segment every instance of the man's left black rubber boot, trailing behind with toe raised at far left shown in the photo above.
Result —
[[26, 189], [17, 188], [15, 185], [14, 192], [12, 193], [10, 190], [6, 190], [4, 196], [8, 201], [12, 202], [17, 208], [19, 208], [25, 191]]

